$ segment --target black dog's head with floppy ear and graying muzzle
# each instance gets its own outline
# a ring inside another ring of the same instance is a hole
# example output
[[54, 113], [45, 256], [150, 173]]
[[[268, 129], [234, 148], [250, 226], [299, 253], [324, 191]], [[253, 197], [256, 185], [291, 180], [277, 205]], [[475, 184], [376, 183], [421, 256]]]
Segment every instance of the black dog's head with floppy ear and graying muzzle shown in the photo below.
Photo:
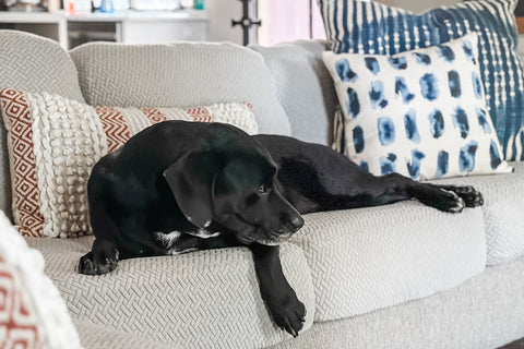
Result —
[[278, 190], [277, 170], [267, 151], [248, 134], [213, 124], [206, 142], [171, 164], [164, 177], [181, 212], [201, 232], [213, 225], [245, 244], [277, 244], [303, 225]]

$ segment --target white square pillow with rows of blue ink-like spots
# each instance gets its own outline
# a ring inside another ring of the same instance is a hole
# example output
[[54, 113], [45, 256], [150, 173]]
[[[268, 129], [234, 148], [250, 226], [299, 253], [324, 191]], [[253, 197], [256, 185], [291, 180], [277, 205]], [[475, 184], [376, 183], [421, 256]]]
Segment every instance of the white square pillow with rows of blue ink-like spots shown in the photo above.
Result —
[[486, 112], [477, 35], [394, 56], [323, 53], [344, 115], [345, 154], [376, 176], [512, 170]]

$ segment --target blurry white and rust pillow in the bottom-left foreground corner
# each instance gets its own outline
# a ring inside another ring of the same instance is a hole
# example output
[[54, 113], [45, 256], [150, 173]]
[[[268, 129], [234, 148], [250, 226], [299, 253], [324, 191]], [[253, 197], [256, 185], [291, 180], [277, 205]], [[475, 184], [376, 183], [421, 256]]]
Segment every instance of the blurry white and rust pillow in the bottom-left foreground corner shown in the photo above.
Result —
[[66, 302], [0, 212], [0, 344], [2, 348], [82, 348]]

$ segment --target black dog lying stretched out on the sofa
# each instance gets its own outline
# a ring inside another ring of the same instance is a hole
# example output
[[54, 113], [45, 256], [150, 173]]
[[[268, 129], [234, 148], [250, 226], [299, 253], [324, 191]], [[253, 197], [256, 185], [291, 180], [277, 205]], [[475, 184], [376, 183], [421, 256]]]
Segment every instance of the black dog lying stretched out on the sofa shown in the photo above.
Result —
[[96, 240], [80, 273], [108, 273], [123, 258], [248, 245], [273, 320], [294, 336], [306, 309], [282, 272], [278, 243], [302, 227], [300, 215], [412, 197], [451, 213], [483, 204], [472, 186], [379, 178], [325, 146], [183, 121], [150, 127], [103, 157], [87, 191]]

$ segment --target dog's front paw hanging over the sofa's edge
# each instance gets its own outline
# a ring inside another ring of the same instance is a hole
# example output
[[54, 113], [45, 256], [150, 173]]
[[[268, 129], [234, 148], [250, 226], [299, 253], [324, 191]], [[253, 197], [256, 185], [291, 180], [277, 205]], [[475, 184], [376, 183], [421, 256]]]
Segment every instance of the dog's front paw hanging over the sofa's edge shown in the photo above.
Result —
[[298, 336], [306, 321], [306, 306], [294, 293], [286, 294], [282, 300], [267, 301], [267, 308], [278, 327], [293, 337]]

